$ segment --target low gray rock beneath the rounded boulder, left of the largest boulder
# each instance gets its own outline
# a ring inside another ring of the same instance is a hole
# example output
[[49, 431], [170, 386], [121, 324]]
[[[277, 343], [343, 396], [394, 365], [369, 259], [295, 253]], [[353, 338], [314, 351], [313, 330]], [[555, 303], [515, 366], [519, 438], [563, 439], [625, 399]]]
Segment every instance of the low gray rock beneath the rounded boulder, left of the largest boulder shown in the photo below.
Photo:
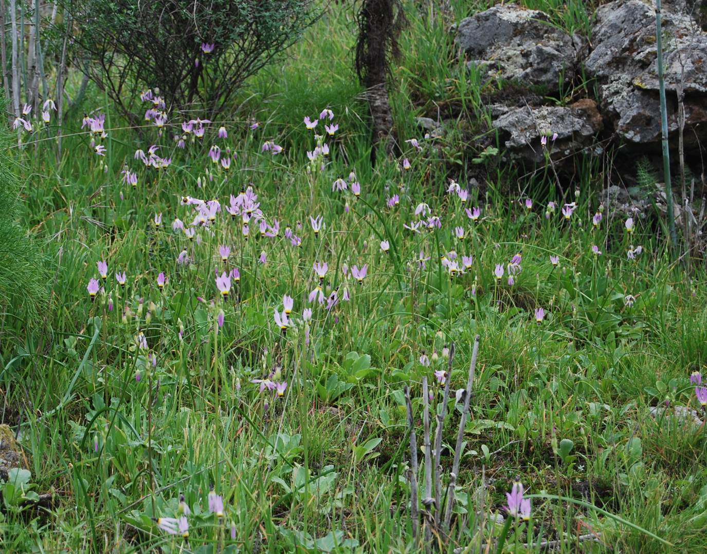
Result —
[[[549, 152], [553, 161], [570, 160], [579, 151], [591, 151], [602, 129], [602, 117], [593, 100], [569, 106], [542, 106], [508, 110], [492, 122], [498, 129], [506, 152], [513, 159], [543, 163]], [[553, 142], [541, 144], [543, 136], [557, 133]]]

